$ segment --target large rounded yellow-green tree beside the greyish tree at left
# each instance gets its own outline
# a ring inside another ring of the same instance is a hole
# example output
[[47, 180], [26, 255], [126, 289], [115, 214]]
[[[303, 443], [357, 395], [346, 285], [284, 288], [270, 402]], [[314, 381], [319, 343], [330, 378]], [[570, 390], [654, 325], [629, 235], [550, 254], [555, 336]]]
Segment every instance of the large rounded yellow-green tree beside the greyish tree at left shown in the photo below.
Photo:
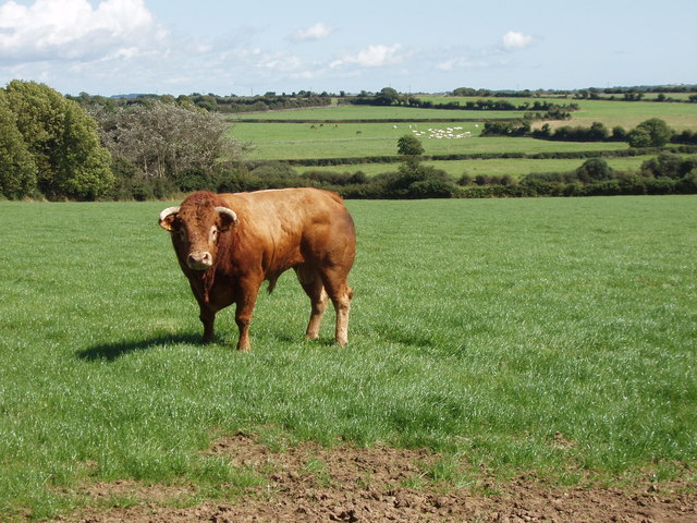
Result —
[[75, 101], [47, 85], [14, 80], [7, 87], [16, 126], [49, 198], [95, 199], [113, 184], [111, 157], [97, 125]]

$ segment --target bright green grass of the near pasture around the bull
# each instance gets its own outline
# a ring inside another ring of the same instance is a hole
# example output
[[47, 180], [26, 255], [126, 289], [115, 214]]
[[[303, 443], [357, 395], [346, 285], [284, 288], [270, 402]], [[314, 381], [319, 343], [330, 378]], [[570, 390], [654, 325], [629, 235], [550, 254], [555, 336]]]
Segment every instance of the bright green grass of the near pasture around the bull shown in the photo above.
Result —
[[97, 482], [234, 499], [272, 472], [204, 452], [239, 430], [441, 452], [443, 488], [697, 479], [697, 197], [347, 202], [350, 344], [303, 341], [286, 273], [250, 354], [232, 309], [200, 342], [166, 205], [0, 203], [3, 518], [138, 502]]

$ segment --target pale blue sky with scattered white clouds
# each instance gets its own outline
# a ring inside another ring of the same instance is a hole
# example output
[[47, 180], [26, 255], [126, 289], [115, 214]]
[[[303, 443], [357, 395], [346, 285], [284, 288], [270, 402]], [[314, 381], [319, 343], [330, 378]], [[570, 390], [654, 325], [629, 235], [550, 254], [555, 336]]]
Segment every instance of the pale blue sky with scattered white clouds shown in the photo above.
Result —
[[0, 0], [0, 87], [77, 95], [697, 84], [695, 0]]

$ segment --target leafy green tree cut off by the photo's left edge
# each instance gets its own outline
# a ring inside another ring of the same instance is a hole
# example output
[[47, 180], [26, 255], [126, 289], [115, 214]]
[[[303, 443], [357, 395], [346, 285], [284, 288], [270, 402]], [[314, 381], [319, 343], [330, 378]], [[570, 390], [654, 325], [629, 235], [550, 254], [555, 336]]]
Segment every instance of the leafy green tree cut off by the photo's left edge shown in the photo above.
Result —
[[11, 199], [29, 196], [36, 188], [36, 172], [34, 158], [16, 126], [16, 115], [0, 89], [0, 194]]

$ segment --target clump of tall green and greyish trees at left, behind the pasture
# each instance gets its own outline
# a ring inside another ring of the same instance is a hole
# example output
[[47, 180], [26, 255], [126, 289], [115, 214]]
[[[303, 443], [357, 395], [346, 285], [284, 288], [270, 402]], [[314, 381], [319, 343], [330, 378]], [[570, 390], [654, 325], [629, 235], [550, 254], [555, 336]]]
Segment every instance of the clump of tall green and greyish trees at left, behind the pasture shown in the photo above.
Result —
[[21, 199], [147, 199], [233, 177], [248, 146], [191, 104], [90, 105], [12, 81], [0, 89], [0, 194]]

